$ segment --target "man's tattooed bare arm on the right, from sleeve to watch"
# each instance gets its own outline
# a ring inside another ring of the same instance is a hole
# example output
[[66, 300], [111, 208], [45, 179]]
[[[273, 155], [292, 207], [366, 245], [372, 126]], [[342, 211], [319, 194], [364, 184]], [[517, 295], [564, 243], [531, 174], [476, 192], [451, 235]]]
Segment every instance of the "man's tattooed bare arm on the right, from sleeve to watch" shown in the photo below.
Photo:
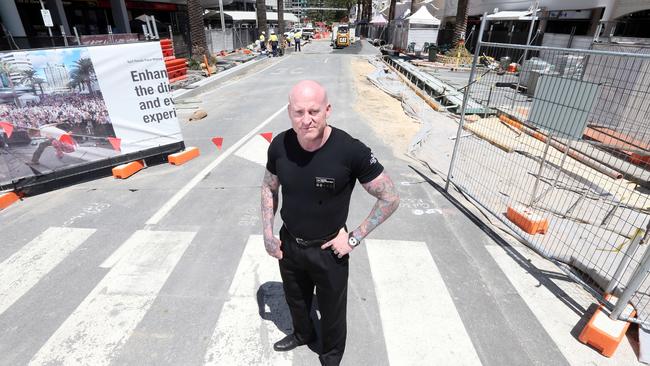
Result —
[[399, 207], [399, 194], [386, 173], [381, 173], [377, 178], [363, 184], [363, 188], [376, 197], [377, 202], [368, 217], [354, 230], [354, 236], [358, 239], [365, 238]]

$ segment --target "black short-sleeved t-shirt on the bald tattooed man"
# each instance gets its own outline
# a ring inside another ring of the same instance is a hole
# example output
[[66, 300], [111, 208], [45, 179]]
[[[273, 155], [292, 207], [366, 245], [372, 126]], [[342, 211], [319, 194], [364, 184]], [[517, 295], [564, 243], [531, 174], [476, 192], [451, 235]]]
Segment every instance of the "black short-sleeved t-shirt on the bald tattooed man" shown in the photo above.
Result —
[[294, 130], [280, 133], [269, 146], [266, 169], [280, 180], [285, 225], [311, 240], [342, 228], [356, 180], [368, 183], [384, 167], [361, 141], [332, 127], [325, 145], [313, 152], [303, 150]]

